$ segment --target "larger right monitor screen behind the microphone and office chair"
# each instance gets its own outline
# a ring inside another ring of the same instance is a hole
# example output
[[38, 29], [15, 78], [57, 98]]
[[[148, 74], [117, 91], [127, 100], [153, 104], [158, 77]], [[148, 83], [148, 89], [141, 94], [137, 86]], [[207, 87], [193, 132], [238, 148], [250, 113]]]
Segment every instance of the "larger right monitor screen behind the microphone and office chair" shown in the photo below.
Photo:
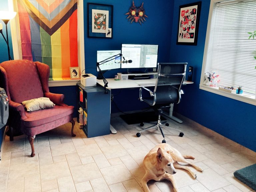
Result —
[[122, 44], [122, 56], [132, 63], [122, 63], [121, 68], [155, 68], [158, 45]]

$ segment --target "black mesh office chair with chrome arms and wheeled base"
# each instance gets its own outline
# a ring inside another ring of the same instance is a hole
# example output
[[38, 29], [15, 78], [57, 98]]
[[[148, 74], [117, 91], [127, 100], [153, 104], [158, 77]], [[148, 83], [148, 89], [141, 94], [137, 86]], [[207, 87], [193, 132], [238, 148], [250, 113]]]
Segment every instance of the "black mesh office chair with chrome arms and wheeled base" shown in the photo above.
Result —
[[[158, 63], [158, 74], [154, 91], [146, 87], [140, 88], [140, 100], [145, 101], [153, 107], [158, 114], [158, 121], [155, 125], [140, 130], [136, 134], [137, 137], [140, 137], [142, 131], [152, 128], [160, 129], [163, 136], [162, 143], [166, 142], [162, 128], [177, 130], [180, 132], [180, 137], [184, 135], [180, 130], [168, 127], [168, 123], [162, 125], [160, 116], [163, 107], [170, 107], [171, 103], [178, 104], [180, 102], [181, 94], [183, 94], [181, 86], [185, 79], [186, 66], [187, 63]], [[142, 93], [144, 93], [143, 90], [146, 90], [144, 91], [147, 94], [145, 97], [142, 96]], [[141, 126], [143, 126], [143, 123], [141, 123]]]

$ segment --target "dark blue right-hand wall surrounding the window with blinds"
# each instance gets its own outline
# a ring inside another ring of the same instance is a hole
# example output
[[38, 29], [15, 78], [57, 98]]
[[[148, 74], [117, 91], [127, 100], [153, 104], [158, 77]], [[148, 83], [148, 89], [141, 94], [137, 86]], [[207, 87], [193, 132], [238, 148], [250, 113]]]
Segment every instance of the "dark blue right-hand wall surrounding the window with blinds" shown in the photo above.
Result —
[[194, 84], [182, 87], [185, 94], [175, 111], [256, 151], [256, 106], [199, 89], [210, 0], [202, 1], [197, 46], [176, 45], [179, 6], [192, 2], [174, 1], [170, 61], [194, 67]]

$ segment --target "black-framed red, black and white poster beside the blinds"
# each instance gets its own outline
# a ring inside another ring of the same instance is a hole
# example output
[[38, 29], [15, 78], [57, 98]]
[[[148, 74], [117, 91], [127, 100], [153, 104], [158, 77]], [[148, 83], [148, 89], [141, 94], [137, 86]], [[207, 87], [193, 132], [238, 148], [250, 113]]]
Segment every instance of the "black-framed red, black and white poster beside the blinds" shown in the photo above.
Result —
[[179, 7], [177, 42], [180, 45], [196, 45], [201, 1]]

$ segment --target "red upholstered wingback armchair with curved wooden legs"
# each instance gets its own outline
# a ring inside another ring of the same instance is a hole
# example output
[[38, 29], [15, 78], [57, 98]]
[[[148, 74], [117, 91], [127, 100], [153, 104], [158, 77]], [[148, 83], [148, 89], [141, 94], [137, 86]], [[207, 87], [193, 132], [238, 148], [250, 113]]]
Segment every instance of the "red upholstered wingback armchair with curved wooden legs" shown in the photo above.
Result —
[[[71, 135], [75, 122], [73, 120], [74, 106], [63, 103], [63, 94], [49, 92], [48, 79], [50, 68], [40, 62], [28, 60], [5, 61], [0, 64], [0, 87], [4, 88], [9, 98], [9, 127], [26, 134], [31, 145], [31, 157], [35, 156], [35, 135], [54, 129], [71, 122]], [[48, 97], [55, 106], [27, 112], [21, 102]], [[12, 132], [12, 131], [11, 131]], [[10, 140], [13, 136], [10, 135]]]

